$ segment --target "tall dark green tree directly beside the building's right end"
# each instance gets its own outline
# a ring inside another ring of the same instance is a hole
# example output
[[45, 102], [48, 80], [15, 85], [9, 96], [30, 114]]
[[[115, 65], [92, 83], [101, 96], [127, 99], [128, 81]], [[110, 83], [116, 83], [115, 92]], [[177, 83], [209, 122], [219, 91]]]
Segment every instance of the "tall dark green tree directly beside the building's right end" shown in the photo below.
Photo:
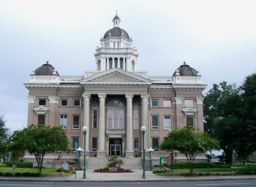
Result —
[[232, 160], [232, 150], [241, 142], [238, 140], [242, 126], [240, 108], [242, 98], [236, 84], [221, 82], [213, 84], [204, 97], [204, 131], [220, 141], [226, 155], [226, 163]]

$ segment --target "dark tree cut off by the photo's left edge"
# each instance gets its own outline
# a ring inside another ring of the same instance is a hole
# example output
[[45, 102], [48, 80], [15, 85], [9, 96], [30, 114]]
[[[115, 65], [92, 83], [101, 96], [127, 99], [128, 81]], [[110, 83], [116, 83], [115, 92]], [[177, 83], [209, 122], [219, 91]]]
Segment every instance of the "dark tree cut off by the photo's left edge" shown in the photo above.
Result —
[[0, 157], [5, 157], [7, 153], [6, 142], [10, 133], [9, 128], [5, 126], [5, 123], [4, 115], [0, 114]]

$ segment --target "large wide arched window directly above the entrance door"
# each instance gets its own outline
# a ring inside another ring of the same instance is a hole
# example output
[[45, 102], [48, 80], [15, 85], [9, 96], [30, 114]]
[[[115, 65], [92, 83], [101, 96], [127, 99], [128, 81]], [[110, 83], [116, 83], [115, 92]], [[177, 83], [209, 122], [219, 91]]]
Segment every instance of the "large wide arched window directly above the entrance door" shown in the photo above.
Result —
[[107, 105], [107, 128], [124, 129], [124, 104], [118, 100]]

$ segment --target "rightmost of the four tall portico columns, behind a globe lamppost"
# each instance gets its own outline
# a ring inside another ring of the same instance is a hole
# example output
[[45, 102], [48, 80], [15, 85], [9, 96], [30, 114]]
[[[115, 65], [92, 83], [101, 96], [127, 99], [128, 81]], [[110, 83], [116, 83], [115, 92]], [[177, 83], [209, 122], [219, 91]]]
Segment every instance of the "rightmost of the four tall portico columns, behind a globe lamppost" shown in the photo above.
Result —
[[149, 132], [150, 132], [150, 126], [148, 125], [148, 99], [149, 99], [148, 94], [141, 94], [141, 126], [145, 126], [147, 128], [145, 132], [145, 138], [144, 138], [145, 149], [149, 148], [148, 140], [149, 140]]

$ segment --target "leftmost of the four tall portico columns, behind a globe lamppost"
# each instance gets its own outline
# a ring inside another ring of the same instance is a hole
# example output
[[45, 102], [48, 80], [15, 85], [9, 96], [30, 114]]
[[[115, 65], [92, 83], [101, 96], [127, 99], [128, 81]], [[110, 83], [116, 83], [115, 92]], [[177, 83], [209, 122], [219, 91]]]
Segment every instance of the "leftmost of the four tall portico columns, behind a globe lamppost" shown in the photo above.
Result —
[[[89, 137], [90, 137], [90, 128], [89, 128], [89, 110], [90, 110], [90, 96], [91, 94], [88, 93], [84, 93], [82, 94], [83, 98], [84, 98], [84, 109], [83, 109], [83, 125], [82, 126], [86, 126], [88, 128], [87, 130], [87, 134], [86, 134], [86, 149], [88, 150], [89, 148]], [[81, 126], [81, 140], [82, 140], [82, 147], [84, 148], [84, 133], [82, 132], [82, 126]], [[89, 151], [89, 150], [88, 150]]]

